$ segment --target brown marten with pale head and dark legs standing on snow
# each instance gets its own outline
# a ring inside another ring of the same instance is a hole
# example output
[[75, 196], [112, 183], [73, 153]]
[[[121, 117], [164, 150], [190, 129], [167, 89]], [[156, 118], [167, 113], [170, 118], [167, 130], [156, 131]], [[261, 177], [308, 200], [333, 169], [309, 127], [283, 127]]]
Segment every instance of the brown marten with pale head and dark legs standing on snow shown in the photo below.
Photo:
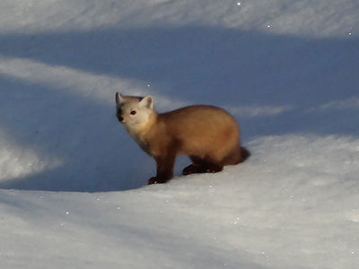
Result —
[[227, 111], [197, 105], [159, 114], [151, 96], [123, 96], [116, 92], [118, 121], [136, 143], [154, 158], [156, 177], [148, 184], [164, 183], [173, 178], [176, 156], [188, 155], [192, 164], [183, 175], [215, 173], [225, 165], [245, 161], [250, 152], [241, 147], [240, 129]]

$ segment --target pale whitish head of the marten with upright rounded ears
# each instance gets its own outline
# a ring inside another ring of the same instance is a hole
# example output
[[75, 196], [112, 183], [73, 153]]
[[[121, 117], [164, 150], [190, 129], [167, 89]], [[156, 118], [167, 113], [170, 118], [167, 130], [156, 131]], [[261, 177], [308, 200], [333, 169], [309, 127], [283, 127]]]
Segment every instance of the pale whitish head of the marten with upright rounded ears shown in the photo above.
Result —
[[153, 99], [146, 97], [124, 96], [116, 92], [116, 110], [118, 121], [133, 128], [145, 124], [153, 113]]

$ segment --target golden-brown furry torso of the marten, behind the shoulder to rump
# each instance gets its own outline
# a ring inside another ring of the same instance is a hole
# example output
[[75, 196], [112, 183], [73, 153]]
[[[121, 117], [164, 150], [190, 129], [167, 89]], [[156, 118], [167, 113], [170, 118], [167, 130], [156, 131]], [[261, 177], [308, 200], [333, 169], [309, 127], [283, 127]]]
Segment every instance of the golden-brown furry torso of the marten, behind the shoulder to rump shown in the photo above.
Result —
[[221, 161], [239, 147], [237, 122], [222, 108], [189, 106], [160, 114], [159, 120], [180, 143], [180, 153]]

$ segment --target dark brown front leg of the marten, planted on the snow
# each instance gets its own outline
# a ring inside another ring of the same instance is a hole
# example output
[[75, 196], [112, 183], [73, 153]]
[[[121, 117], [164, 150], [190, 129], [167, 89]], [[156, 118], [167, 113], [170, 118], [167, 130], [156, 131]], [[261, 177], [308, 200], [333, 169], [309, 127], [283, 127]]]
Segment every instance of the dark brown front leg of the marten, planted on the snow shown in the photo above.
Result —
[[148, 185], [155, 183], [165, 183], [173, 178], [173, 167], [176, 161], [176, 153], [171, 152], [166, 156], [154, 157], [157, 164], [156, 177], [148, 180]]

